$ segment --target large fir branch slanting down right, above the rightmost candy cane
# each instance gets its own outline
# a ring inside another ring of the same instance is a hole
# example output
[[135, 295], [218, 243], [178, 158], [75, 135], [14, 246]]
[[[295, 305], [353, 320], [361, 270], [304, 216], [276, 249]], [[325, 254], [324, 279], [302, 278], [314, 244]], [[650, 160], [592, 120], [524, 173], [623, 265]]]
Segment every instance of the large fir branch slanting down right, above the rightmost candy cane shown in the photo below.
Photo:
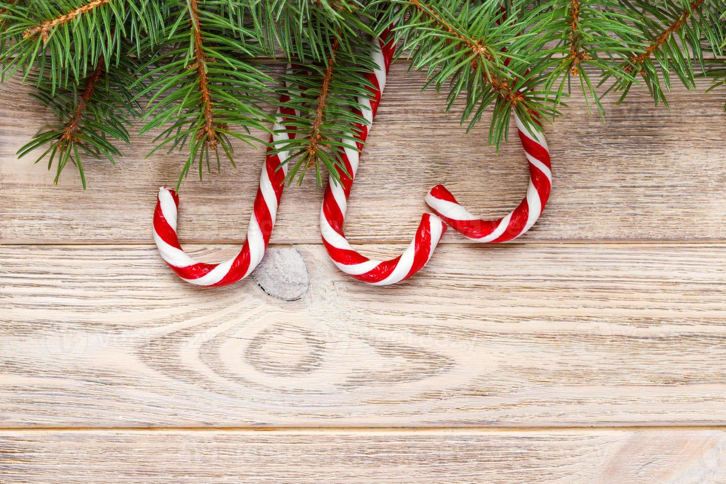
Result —
[[[466, 104], [462, 123], [475, 126], [487, 107], [492, 106], [489, 142], [507, 139], [510, 115], [534, 126], [534, 118], [552, 118], [555, 105], [542, 89], [545, 71], [550, 68], [553, 50], [542, 36], [548, 7], [530, 8], [529, 1], [514, 0], [511, 15], [503, 20], [502, 8], [495, 2], [446, 0], [375, 0], [377, 32], [388, 25], [403, 38], [412, 68], [425, 70], [428, 83], [437, 91], [449, 87], [447, 109], [461, 94]], [[524, 94], [526, 93], [526, 94]]]

